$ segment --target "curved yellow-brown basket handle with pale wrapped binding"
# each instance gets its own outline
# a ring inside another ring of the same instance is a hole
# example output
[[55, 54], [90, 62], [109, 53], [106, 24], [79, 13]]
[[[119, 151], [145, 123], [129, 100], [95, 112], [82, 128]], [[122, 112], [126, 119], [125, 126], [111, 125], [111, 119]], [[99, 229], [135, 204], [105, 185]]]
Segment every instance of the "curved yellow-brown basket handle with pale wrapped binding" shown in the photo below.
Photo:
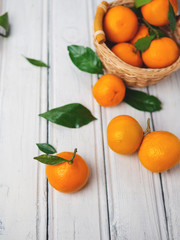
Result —
[[109, 4], [106, 1], [100, 3], [97, 7], [94, 18], [94, 37], [100, 44], [106, 41], [105, 33], [103, 31], [103, 17], [108, 10], [108, 6]]

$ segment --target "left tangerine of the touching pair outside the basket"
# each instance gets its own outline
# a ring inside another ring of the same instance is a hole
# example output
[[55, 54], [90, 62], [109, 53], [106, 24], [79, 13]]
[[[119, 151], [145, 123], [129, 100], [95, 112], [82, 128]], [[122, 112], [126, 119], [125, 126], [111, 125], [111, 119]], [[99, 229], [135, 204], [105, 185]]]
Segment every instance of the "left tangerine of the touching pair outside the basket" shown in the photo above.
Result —
[[139, 148], [142, 139], [142, 127], [128, 115], [113, 118], [107, 127], [108, 145], [116, 153], [134, 153]]

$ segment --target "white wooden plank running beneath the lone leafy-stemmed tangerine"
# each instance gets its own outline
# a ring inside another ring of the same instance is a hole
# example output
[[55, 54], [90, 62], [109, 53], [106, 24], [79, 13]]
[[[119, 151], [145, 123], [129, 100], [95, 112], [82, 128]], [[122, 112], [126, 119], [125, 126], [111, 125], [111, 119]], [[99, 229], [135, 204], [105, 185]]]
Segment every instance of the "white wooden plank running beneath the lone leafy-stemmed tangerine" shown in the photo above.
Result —
[[[67, 52], [67, 45], [90, 44], [90, 4], [84, 0], [51, 2], [50, 108], [80, 102], [99, 119], [99, 106], [94, 105], [91, 94], [93, 77], [75, 68]], [[59, 152], [77, 147], [89, 165], [90, 178], [75, 194], [62, 194], [49, 187], [49, 238], [109, 239], [100, 120], [80, 129], [50, 124], [50, 143]]]

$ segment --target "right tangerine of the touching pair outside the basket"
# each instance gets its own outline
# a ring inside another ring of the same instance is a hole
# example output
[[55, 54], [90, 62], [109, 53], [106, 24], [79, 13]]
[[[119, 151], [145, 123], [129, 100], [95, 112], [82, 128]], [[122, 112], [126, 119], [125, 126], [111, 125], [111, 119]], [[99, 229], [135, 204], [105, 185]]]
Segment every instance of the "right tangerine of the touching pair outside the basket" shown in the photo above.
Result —
[[163, 172], [180, 161], [180, 141], [167, 131], [147, 134], [139, 149], [139, 160], [152, 172]]

